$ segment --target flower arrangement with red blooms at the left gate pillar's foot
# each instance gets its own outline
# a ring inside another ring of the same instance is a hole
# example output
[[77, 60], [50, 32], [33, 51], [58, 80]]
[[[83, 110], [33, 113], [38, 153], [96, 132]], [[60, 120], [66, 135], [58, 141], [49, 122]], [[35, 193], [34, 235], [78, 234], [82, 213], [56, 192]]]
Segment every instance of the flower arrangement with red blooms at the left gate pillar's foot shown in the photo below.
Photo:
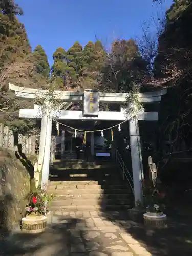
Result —
[[30, 216], [46, 216], [49, 212], [47, 205], [53, 198], [54, 194], [48, 195], [46, 190], [31, 192], [27, 195], [26, 214]]

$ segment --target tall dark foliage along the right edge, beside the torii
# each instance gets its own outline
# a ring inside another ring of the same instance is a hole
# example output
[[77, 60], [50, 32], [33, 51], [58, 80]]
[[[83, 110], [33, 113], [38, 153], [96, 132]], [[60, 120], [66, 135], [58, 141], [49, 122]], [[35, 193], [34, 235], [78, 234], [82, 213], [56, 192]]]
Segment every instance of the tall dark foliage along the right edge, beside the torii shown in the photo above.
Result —
[[161, 105], [159, 140], [162, 149], [161, 141], [169, 141], [172, 154], [181, 151], [183, 141], [191, 148], [191, 18], [191, 1], [174, 1], [166, 12], [166, 26], [159, 37], [158, 55], [154, 63], [155, 76], [162, 79], [164, 87], [169, 88]]

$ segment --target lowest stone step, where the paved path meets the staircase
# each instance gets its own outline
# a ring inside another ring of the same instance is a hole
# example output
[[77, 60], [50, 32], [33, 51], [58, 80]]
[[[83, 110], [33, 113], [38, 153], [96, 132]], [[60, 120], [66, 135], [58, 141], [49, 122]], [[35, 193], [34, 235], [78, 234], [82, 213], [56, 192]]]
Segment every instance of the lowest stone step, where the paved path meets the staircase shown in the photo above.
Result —
[[62, 212], [72, 211], [124, 211], [131, 209], [133, 204], [128, 205], [66, 205], [66, 206], [51, 206], [50, 210], [53, 214], [62, 214]]

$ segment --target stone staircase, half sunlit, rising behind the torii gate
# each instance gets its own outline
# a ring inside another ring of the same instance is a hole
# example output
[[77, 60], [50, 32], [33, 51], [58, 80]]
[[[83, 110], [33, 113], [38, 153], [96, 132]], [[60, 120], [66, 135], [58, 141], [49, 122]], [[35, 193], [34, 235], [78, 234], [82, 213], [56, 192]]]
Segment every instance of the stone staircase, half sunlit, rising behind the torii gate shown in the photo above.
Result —
[[51, 169], [49, 193], [54, 214], [61, 211], [122, 211], [133, 206], [133, 193], [110, 162], [57, 161]]

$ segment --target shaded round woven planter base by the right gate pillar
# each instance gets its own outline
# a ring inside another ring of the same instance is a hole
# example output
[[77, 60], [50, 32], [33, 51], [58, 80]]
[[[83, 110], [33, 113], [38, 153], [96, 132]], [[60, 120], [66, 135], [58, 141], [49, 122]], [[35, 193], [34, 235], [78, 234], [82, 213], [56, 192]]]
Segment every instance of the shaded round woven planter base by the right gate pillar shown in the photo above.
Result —
[[155, 214], [147, 212], [143, 215], [144, 224], [147, 227], [154, 228], [165, 228], [167, 227], [167, 216], [166, 214]]

